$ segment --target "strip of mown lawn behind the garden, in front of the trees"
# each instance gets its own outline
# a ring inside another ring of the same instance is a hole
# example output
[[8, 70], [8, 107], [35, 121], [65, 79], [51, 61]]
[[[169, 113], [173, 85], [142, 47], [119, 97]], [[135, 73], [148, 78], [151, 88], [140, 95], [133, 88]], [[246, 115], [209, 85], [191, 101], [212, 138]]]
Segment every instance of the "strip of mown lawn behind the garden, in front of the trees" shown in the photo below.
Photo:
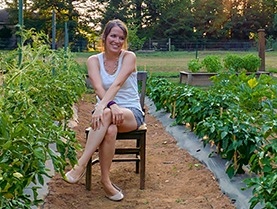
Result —
[[[86, 59], [94, 53], [75, 53], [76, 60], [79, 63], [86, 62]], [[258, 55], [257, 51], [199, 51], [198, 57], [200, 61], [207, 55], [217, 55], [222, 60], [228, 54], [246, 54]], [[147, 71], [152, 76], [161, 77], [179, 77], [180, 71], [188, 70], [188, 62], [195, 59], [196, 52], [136, 52], [138, 70]], [[277, 73], [277, 51], [266, 52], [265, 68], [266, 71]]]

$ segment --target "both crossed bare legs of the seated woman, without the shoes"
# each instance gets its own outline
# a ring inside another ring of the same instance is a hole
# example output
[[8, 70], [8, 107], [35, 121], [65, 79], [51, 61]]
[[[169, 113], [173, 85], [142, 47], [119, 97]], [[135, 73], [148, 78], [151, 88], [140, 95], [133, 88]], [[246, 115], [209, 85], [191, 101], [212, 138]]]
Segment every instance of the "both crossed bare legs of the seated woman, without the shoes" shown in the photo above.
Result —
[[[112, 186], [109, 178], [109, 169], [112, 163], [112, 158], [114, 156], [114, 149], [115, 149], [115, 136], [116, 132], [128, 132], [136, 129], [137, 123], [135, 117], [129, 109], [122, 108], [124, 114], [124, 122], [116, 127], [115, 125], [111, 125], [112, 123], [112, 114], [110, 109], [104, 110], [104, 119], [102, 121], [102, 126], [99, 130], [91, 130], [88, 135], [88, 140], [85, 146], [84, 153], [82, 154], [81, 158], [78, 160], [78, 164], [74, 166], [73, 169], [69, 172], [69, 175], [73, 179], [78, 179], [82, 175], [87, 165], [87, 162], [95, 152], [95, 150], [101, 145], [103, 139], [107, 139], [107, 142], [103, 143], [103, 147], [99, 147], [101, 149], [101, 154], [99, 155], [100, 158], [100, 166], [101, 166], [101, 181], [104, 185], [104, 189], [109, 195], [110, 193], [113, 194], [116, 192], [114, 187]], [[114, 127], [115, 126], [115, 127]], [[109, 131], [108, 131], [109, 129]], [[116, 131], [115, 131], [116, 130]], [[107, 136], [106, 136], [107, 134]], [[114, 138], [113, 138], [114, 137]], [[114, 141], [111, 143], [111, 141]], [[106, 141], [106, 140], [105, 140]], [[103, 158], [103, 159], [102, 159]], [[102, 166], [104, 165], [104, 168]]]

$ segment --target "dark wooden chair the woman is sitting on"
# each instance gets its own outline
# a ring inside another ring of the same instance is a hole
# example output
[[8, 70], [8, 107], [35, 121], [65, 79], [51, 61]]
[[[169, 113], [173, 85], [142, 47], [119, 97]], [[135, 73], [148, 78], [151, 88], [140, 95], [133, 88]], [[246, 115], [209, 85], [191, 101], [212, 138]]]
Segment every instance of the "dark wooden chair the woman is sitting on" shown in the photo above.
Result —
[[[137, 73], [138, 85], [140, 89], [140, 105], [144, 109], [145, 91], [146, 91], [146, 79], [147, 73], [138, 71]], [[86, 129], [86, 139], [88, 138], [88, 133], [90, 128]], [[145, 185], [145, 149], [146, 149], [146, 124], [142, 124], [137, 130], [118, 133], [117, 140], [135, 140], [136, 146], [133, 147], [116, 147], [115, 157], [113, 162], [136, 162], [136, 173], [140, 174], [140, 189], [144, 189]], [[125, 155], [126, 157], [117, 157], [118, 155]], [[128, 156], [127, 156], [128, 155]], [[90, 159], [87, 164], [86, 170], [86, 189], [91, 190], [91, 166], [98, 163], [99, 158], [94, 160]]]

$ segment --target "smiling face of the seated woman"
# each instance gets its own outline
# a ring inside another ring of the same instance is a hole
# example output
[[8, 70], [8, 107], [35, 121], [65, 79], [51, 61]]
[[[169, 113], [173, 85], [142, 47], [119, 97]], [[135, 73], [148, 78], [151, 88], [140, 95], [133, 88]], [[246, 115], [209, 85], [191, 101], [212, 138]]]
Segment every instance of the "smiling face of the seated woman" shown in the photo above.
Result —
[[111, 29], [105, 41], [105, 49], [110, 52], [119, 52], [125, 42], [125, 36], [120, 27], [115, 26]]

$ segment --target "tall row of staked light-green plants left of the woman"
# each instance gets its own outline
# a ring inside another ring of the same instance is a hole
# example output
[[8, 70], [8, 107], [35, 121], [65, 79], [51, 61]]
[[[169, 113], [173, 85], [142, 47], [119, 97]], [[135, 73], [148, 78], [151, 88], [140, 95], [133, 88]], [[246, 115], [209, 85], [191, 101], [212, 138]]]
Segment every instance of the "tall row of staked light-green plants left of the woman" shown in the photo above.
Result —
[[62, 175], [67, 161], [76, 163], [79, 144], [67, 124], [85, 91], [69, 52], [50, 50], [43, 34], [25, 31], [22, 37], [21, 62], [20, 51], [0, 56], [0, 208], [6, 209], [39, 204], [38, 187], [32, 187], [33, 198], [24, 189], [44, 184], [47, 160]]

